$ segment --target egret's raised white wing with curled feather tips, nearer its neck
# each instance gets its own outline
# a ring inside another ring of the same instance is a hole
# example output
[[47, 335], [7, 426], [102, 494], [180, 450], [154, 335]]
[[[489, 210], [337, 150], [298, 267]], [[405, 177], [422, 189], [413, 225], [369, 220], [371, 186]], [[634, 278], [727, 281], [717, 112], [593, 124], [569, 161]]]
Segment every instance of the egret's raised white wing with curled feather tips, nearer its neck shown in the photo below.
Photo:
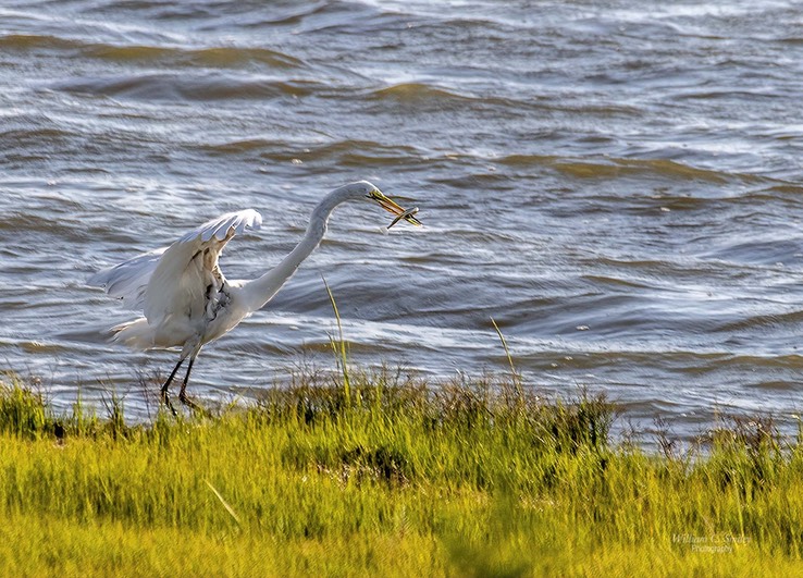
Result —
[[199, 319], [221, 249], [247, 226], [259, 229], [261, 224], [262, 217], [252, 209], [230, 212], [190, 231], [168, 247], [145, 288], [143, 311], [148, 323], [158, 325], [176, 313]]

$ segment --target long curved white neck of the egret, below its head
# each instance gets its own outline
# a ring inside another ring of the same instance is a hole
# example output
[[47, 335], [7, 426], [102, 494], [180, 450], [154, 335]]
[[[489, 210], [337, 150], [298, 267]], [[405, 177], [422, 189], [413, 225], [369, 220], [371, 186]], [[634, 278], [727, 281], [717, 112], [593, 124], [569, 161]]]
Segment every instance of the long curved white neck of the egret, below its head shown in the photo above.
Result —
[[273, 298], [279, 290], [293, 276], [298, 266], [321, 244], [323, 235], [326, 234], [329, 218], [335, 207], [351, 197], [349, 190], [343, 190], [342, 188], [326, 195], [312, 211], [307, 232], [304, 234], [301, 242], [276, 267], [245, 284], [243, 291], [249, 310], [256, 311]]

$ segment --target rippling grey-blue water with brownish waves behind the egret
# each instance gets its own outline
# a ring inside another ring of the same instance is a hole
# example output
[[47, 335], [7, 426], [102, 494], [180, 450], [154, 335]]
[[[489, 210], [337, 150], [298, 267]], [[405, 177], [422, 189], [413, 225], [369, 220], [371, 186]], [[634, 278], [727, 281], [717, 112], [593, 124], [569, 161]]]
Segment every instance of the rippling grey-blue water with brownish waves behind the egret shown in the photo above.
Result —
[[144, 410], [131, 316], [94, 270], [252, 207], [252, 276], [314, 202], [368, 179], [425, 227], [344, 207], [195, 392], [332, 365], [333, 288], [361, 365], [606, 391], [685, 433], [792, 423], [803, 357], [803, 16], [795, 2], [11, 2], [0, 8], [0, 365], [53, 403]]

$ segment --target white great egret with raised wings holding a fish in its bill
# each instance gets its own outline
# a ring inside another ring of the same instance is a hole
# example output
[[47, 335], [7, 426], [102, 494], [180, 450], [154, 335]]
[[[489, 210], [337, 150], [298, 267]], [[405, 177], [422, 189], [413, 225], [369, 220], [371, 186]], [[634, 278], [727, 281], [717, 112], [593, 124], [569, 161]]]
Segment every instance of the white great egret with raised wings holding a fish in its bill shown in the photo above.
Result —
[[185, 393], [189, 372], [201, 347], [234, 329], [264, 306], [293, 276], [298, 266], [318, 247], [326, 233], [332, 211], [348, 200], [369, 199], [415, 225], [417, 209], [405, 210], [367, 181], [359, 181], [326, 195], [312, 211], [304, 238], [287, 257], [263, 275], [250, 281], [227, 280], [218, 257], [231, 238], [246, 227], [259, 229], [262, 217], [252, 209], [230, 212], [190, 231], [170, 247], [145, 253], [99, 271], [89, 285], [103, 287], [144, 317], [111, 328], [114, 341], [133, 348], [181, 347], [178, 362], [162, 385], [162, 401], [175, 414], [168, 389], [178, 368], [189, 358], [178, 398], [193, 406]]

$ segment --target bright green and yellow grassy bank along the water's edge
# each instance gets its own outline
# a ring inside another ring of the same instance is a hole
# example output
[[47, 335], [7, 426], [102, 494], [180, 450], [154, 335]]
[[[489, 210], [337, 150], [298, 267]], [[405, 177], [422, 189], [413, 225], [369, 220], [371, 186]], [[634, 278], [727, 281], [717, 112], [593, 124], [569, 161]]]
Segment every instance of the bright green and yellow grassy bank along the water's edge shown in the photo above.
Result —
[[803, 450], [762, 421], [653, 455], [519, 383], [351, 374], [132, 427], [0, 381], [9, 576], [803, 574]]

